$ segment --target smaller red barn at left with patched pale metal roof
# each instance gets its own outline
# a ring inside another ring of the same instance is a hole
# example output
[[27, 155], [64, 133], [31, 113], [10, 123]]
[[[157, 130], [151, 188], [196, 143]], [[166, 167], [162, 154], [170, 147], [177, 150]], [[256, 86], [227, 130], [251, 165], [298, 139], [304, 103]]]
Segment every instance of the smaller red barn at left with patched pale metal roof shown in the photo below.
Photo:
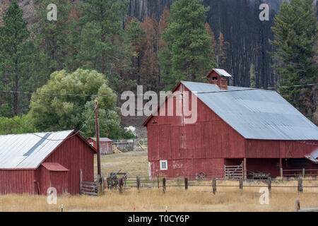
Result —
[[95, 149], [76, 131], [0, 136], [0, 194], [80, 193], [94, 181]]

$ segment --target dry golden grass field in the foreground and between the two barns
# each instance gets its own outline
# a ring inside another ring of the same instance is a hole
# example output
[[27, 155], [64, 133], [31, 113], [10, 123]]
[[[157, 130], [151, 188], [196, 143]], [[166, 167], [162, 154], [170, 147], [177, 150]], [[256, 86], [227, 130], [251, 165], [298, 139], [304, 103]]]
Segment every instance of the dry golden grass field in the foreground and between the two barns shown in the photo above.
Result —
[[[119, 169], [129, 172], [130, 177], [148, 175], [147, 153], [131, 152], [102, 156], [102, 174]], [[123, 194], [105, 190], [102, 196], [59, 196], [57, 205], [47, 204], [46, 196], [4, 195], [0, 196], [0, 211], [295, 211], [295, 200], [300, 199], [301, 208], [318, 207], [318, 188], [305, 188], [298, 193], [295, 181], [273, 182], [269, 205], [259, 203], [259, 188], [263, 182], [245, 182], [243, 190], [237, 181], [218, 181], [213, 195], [208, 186], [169, 186], [176, 182], [167, 181], [167, 191], [163, 189], [129, 188]], [[190, 184], [196, 184], [191, 182]], [[204, 185], [204, 182], [200, 182]], [[234, 185], [234, 186], [229, 186]], [[275, 186], [283, 186], [276, 188]], [[304, 186], [318, 186], [318, 181], [304, 181]]]

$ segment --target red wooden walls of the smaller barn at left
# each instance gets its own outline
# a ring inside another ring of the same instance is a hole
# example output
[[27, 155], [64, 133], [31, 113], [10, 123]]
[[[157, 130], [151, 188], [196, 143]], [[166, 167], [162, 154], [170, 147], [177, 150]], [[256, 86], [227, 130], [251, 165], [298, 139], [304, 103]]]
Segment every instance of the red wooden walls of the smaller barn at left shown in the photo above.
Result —
[[37, 169], [0, 169], [0, 194], [46, 194], [49, 186], [57, 186], [58, 194], [79, 194], [80, 169], [83, 181], [94, 181], [94, 153], [80, 136], [72, 136], [44, 160], [57, 162], [69, 171], [50, 171], [42, 165]]

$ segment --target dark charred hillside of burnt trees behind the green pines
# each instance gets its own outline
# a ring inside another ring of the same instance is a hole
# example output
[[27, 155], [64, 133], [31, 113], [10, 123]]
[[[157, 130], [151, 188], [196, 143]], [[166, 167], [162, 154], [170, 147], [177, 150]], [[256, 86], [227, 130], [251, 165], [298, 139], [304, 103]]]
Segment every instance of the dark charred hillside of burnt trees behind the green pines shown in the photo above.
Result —
[[[254, 64], [257, 87], [275, 85], [276, 76], [273, 70], [273, 61], [268, 52], [271, 52], [269, 40], [273, 39], [271, 26], [282, 0], [206, 0], [205, 6], [210, 6], [208, 23], [216, 38], [223, 33], [224, 39], [230, 47], [227, 52], [227, 61], [223, 66], [232, 73], [231, 85], [249, 86], [249, 70]], [[6, 7], [11, 0], [1, 0], [0, 23]], [[19, 0], [24, 11], [24, 18], [29, 26], [35, 23], [35, 6], [37, 0]], [[78, 0], [73, 1], [74, 4]], [[173, 0], [131, 0], [129, 16], [143, 20], [148, 14], [159, 20], [165, 6], [170, 8]], [[259, 20], [259, 5], [267, 3], [270, 6], [269, 21]]]

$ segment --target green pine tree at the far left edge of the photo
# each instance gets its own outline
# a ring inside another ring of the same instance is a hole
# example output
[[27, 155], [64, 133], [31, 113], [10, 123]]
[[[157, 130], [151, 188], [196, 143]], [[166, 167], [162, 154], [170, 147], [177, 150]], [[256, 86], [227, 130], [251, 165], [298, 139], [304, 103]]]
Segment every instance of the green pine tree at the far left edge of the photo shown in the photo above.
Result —
[[28, 109], [29, 97], [20, 96], [20, 90], [34, 90], [37, 84], [35, 49], [28, 41], [30, 32], [23, 20], [23, 11], [12, 1], [0, 27], [0, 88], [12, 93], [0, 95], [0, 114], [16, 116]]

